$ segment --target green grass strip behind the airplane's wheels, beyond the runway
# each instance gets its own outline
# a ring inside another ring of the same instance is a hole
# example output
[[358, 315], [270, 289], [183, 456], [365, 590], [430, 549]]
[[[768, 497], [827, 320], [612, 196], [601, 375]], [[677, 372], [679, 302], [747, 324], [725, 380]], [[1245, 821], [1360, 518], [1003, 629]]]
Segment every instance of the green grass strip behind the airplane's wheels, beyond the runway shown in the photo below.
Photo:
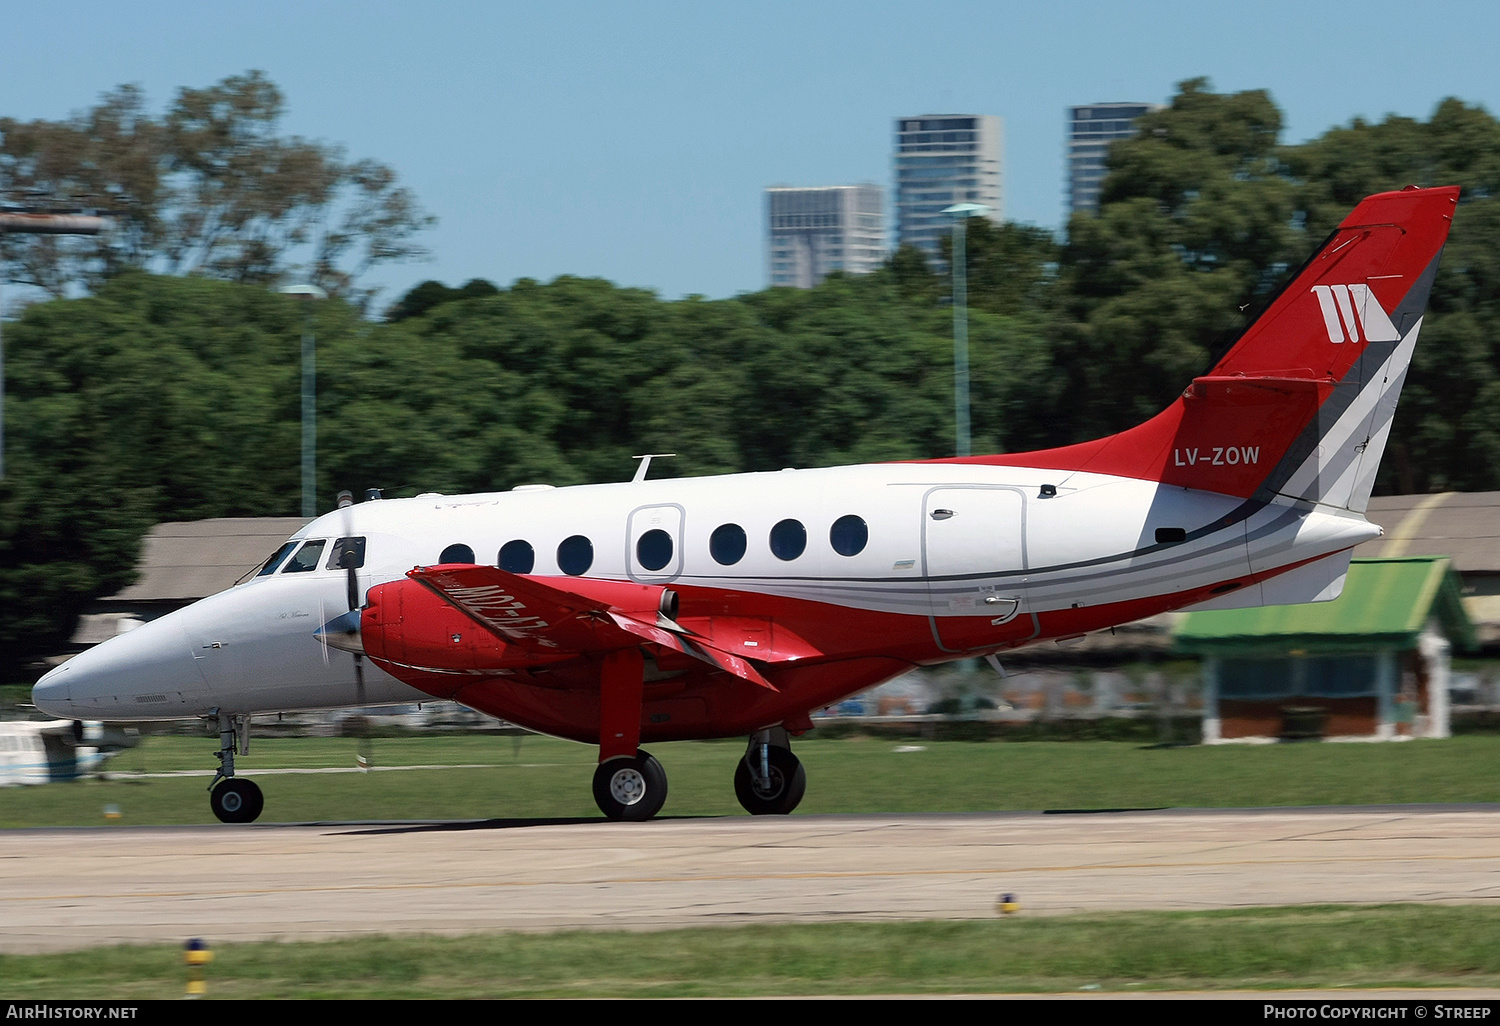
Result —
[[[148, 736], [111, 762], [114, 778], [0, 790], [0, 828], [208, 824], [214, 738]], [[1124, 742], [798, 741], [800, 813], [1252, 807], [1500, 801], [1500, 736], [1402, 744], [1158, 748]], [[906, 750], [903, 750], [906, 748]], [[916, 748], [916, 750], [910, 750]], [[664, 816], [744, 814], [730, 778], [740, 741], [652, 746], [666, 766]], [[348, 738], [254, 740], [238, 760], [260, 777], [267, 822], [328, 819], [598, 818], [594, 748], [552, 738], [376, 738], [374, 772]], [[462, 766], [388, 771], [392, 766]]]

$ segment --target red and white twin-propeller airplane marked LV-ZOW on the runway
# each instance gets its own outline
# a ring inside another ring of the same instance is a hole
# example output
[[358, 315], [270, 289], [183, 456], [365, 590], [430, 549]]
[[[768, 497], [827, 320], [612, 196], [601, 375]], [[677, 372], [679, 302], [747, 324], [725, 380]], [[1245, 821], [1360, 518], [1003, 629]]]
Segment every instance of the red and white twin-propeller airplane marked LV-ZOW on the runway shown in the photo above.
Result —
[[1162, 412], [1035, 453], [340, 504], [234, 588], [92, 648], [34, 704], [219, 728], [210, 806], [254, 820], [250, 718], [452, 699], [598, 746], [610, 819], [666, 801], [640, 746], [747, 736], [784, 814], [812, 712], [914, 666], [1173, 609], [1335, 598], [1458, 202], [1368, 196]]

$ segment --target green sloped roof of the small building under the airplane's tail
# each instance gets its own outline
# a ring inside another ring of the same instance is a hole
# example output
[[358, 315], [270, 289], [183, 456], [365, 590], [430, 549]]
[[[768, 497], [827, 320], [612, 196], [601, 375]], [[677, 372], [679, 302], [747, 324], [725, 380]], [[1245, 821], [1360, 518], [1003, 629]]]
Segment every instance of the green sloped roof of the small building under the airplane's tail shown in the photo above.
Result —
[[1334, 602], [1188, 614], [1176, 646], [1236, 656], [1414, 648], [1434, 616], [1455, 646], [1474, 648], [1474, 626], [1448, 556], [1353, 560], [1344, 592]]

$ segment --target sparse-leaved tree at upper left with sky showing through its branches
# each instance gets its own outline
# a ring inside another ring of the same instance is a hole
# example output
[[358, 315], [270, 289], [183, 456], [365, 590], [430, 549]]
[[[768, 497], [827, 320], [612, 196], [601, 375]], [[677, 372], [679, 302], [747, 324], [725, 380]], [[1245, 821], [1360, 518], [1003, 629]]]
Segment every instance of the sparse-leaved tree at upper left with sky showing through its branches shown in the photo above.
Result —
[[12, 280], [62, 296], [126, 268], [268, 284], [297, 273], [356, 303], [376, 264], [424, 254], [434, 224], [396, 174], [322, 142], [282, 136], [264, 74], [182, 88], [153, 117], [136, 86], [66, 122], [0, 118], [0, 195], [110, 213], [88, 240], [0, 237]]

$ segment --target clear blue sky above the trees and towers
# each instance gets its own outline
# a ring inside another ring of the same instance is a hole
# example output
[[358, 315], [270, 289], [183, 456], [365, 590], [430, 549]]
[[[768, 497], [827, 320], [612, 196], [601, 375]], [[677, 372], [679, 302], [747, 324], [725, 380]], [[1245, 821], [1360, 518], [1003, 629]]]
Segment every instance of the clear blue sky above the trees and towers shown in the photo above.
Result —
[[[600, 276], [668, 298], [765, 286], [762, 189], [890, 190], [898, 116], [999, 114], [1005, 216], [1064, 219], [1066, 108], [1266, 88], [1284, 141], [1444, 96], [1500, 104], [1500, 4], [1428, 2], [0, 4], [0, 114], [62, 118], [123, 82], [264, 70], [286, 134], [400, 174], [436, 278]], [[890, 195], [886, 196], [890, 202]]]

